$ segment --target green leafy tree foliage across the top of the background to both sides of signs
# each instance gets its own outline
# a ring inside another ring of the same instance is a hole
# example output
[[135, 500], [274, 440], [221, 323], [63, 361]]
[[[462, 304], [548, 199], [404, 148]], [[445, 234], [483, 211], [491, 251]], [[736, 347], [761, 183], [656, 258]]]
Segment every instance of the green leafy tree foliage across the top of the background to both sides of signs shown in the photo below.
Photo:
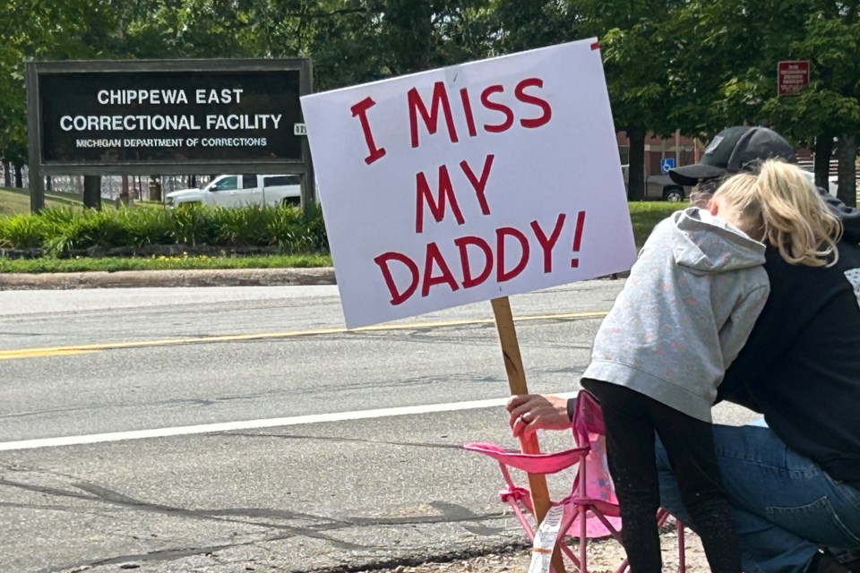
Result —
[[[0, 158], [26, 161], [27, 58], [309, 56], [324, 90], [596, 37], [615, 126], [632, 140], [637, 198], [648, 132], [708, 139], [727, 125], [767, 124], [822, 156], [833, 141], [850, 151], [860, 131], [858, 4], [0, 0]], [[778, 97], [777, 63], [789, 59], [809, 60], [812, 81], [797, 97]]]

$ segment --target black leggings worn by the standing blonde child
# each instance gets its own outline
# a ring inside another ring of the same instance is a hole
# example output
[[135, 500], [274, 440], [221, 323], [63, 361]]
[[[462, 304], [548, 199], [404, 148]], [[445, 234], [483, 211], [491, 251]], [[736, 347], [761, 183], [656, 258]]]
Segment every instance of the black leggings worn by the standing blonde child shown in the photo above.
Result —
[[621, 510], [621, 536], [631, 573], [659, 573], [660, 506], [654, 432], [666, 448], [692, 529], [701, 537], [712, 573], [740, 573], [740, 542], [719, 478], [711, 425], [635, 390], [582, 379], [600, 401], [606, 455]]

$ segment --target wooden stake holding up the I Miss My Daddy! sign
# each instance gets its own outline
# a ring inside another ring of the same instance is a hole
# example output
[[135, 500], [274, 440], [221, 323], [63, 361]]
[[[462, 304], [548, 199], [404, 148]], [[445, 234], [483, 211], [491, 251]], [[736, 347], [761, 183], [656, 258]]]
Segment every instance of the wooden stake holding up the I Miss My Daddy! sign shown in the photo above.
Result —
[[[493, 304], [495, 315], [495, 328], [499, 331], [499, 341], [502, 343], [502, 355], [504, 358], [504, 370], [508, 374], [508, 386], [511, 395], [528, 394], [526, 386], [526, 373], [522, 369], [522, 357], [520, 356], [520, 343], [517, 342], [517, 330], [513, 326], [513, 314], [511, 302], [507, 296], [494, 298]], [[539, 454], [537, 433], [532, 432], [529, 437], [520, 436], [520, 450], [524, 454]], [[531, 507], [535, 509], [535, 517], [538, 525], [544, 520], [549, 510], [549, 490], [546, 488], [546, 475], [529, 474], [529, 490], [531, 490]], [[559, 532], [564, 535], [564, 532]], [[556, 546], [553, 550], [552, 566], [555, 573], [564, 573], [562, 554]]]

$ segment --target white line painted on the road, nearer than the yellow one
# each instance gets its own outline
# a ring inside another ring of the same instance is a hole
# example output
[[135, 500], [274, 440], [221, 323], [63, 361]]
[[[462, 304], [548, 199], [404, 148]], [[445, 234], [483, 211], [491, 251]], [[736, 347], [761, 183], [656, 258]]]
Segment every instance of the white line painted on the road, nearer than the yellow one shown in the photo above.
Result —
[[[573, 398], [576, 392], [554, 394], [561, 398]], [[245, 420], [241, 422], [204, 423], [193, 426], [177, 426], [174, 428], [156, 428], [153, 430], [134, 430], [131, 432], [94, 433], [84, 436], [64, 436], [62, 438], [42, 438], [39, 440], [20, 440], [0, 442], [0, 451], [19, 449], [56, 448], [60, 446], [78, 446], [96, 444], [107, 441], [145, 440], [148, 438], [168, 438], [169, 436], [185, 436], [199, 433], [234, 432], [236, 430], [257, 430], [276, 426], [297, 426], [307, 423], [346, 422], [348, 420], [366, 420], [399, 415], [433, 414], [435, 412], [456, 412], [504, 406], [508, 398], [492, 398], [472, 400], [469, 402], [452, 402], [449, 404], [428, 404], [424, 406], [400, 406], [396, 408], [379, 408], [375, 410], [359, 410], [357, 412], [337, 412], [333, 414], [297, 415], [288, 418], [269, 418], [263, 420]]]

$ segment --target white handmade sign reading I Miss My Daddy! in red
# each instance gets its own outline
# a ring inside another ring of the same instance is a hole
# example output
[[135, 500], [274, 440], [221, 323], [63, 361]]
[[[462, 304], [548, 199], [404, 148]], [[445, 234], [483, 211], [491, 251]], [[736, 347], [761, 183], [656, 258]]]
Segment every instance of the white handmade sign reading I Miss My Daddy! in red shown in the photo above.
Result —
[[348, 328], [631, 267], [595, 42], [301, 98]]

